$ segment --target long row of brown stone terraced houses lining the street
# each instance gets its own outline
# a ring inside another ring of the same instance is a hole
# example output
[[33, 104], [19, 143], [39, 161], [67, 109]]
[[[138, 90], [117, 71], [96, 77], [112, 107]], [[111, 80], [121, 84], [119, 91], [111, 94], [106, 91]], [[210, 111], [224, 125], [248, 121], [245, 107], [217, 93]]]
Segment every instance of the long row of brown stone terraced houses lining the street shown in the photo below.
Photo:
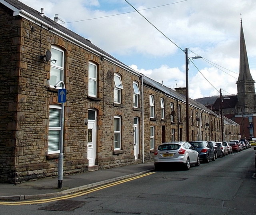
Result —
[[[186, 97], [178, 89], [132, 70], [43, 10], [0, 0], [0, 36], [0, 182], [57, 175], [60, 151], [68, 175], [152, 162], [157, 145], [185, 139]], [[220, 140], [218, 115], [194, 100], [190, 111], [192, 140]]]

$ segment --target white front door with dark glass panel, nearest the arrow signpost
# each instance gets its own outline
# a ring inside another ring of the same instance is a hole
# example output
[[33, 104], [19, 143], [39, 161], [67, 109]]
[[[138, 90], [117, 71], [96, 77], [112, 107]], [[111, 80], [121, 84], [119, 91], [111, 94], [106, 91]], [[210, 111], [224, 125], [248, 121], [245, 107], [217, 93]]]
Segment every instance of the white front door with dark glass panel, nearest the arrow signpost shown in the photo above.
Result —
[[96, 111], [88, 110], [88, 143], [87, 159], [88, 165], [94, 166], [96, 159]]

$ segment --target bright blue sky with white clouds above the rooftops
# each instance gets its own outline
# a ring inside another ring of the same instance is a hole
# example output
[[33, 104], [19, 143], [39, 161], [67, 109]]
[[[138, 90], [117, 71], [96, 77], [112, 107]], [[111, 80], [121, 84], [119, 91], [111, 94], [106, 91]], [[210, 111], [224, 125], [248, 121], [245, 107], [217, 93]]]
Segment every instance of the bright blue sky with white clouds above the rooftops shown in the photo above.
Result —
[[[256, 80], [255, 0], [20, 0], [132, 69], [192, 99], [237, 94], [240, 22]], [[137, 10], [135, 10], [135, 9]]]

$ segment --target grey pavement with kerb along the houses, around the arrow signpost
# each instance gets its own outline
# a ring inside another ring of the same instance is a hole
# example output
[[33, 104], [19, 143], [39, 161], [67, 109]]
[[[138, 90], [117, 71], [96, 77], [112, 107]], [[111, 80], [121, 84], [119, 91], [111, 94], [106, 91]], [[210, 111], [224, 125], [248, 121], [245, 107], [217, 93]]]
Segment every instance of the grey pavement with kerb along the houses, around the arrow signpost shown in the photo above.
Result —
[[0, 201], [24, 201], [44, 199], [84, 191], [121, 179], [154, 171], [154, 163], [101, 169], [74, 175], [64, 175], [62, 189], [58, 189], [58, 177], [46, 177], [20, 184], [0, 183]]

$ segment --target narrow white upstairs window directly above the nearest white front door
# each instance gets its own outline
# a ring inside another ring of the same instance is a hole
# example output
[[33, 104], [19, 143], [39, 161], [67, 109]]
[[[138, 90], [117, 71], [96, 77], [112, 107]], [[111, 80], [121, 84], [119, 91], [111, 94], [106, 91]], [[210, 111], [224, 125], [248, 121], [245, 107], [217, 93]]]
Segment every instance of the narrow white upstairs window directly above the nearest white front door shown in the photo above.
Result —
[[[90, 65], [94, 67], [94, 71], [90, 70]], [[97, 64], [93, 62], [89, 62], [88, 66], [88, 96], [97, 97]]]

